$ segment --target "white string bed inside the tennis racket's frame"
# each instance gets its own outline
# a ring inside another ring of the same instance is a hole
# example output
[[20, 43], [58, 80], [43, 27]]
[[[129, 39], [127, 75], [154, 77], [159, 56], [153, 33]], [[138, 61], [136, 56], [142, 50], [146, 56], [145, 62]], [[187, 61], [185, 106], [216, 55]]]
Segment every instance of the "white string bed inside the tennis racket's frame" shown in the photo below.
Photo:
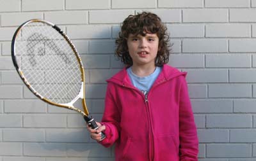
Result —
[[69, 43], [50, 25], [33, 22], [22, 28], [15, 44], [26, 80], [38, 94], [67, 103], [79, 94], [81, 69]]

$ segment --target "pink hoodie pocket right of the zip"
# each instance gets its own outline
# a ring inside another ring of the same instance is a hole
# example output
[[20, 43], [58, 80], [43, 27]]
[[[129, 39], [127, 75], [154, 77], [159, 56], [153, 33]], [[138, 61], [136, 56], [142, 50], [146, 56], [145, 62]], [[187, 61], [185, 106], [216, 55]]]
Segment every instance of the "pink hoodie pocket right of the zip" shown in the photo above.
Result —
[[163, 134], [156, 139], [157, 160], [179, 160], [179, 144], [173, 135]]

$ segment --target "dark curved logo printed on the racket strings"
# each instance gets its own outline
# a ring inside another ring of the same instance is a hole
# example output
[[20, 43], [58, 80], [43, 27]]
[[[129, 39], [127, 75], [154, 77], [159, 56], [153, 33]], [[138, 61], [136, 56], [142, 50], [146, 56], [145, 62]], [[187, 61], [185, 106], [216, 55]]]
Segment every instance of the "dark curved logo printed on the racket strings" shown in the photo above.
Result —
[[29, 55], [29, 62], [32, 66], [36, 65], [35, 60], [35, 48], [38, 45], [42, 45], [38, 47], [38, 55], [44, 56], [45, 55], [45, 47], [47, 46], [50, 48], [54, 53], [59, 55], [61, 59], [66, 63], [70, 63], [70, 59], [68, 59], [67, 54], [64, 53], [59, 46], [54, 43], [52, 39], [47, 38], [43, 34], [40, 34], [38, 32], [35, 32], [31, 34], [31, 36], [28, 37], [28, 43], [27, 43], [27, 52]]

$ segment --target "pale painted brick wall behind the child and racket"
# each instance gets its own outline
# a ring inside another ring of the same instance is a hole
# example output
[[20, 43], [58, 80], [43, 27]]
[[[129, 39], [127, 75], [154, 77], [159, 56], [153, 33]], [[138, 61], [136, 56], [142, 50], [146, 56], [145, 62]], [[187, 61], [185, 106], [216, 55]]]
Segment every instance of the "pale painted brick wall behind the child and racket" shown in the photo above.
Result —
[[169, 64], [188, 72], [200, 161], [256, 160], [256, 0], [0, 0], [0, 161], [114, 160], [113, 148], [90, 139], [80, 115], [24, 87], [11, 39], [31, 18], [60, 25], [81, 54], [86, 101], [100, 120], [105, 80], [122, 68], [113, 56], [119, 24], [140, 11], [166, 23]]

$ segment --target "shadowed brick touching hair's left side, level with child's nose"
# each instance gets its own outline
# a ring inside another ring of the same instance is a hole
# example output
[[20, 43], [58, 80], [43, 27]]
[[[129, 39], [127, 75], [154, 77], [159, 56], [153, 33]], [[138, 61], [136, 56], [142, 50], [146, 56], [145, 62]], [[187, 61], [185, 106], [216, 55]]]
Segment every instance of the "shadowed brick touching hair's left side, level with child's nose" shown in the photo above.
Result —
[[115, 52], [115, 41], [113, 40], [95, 40], [95, 41], [89, 42], [88, 53], [114, 53], [114, 52]]

